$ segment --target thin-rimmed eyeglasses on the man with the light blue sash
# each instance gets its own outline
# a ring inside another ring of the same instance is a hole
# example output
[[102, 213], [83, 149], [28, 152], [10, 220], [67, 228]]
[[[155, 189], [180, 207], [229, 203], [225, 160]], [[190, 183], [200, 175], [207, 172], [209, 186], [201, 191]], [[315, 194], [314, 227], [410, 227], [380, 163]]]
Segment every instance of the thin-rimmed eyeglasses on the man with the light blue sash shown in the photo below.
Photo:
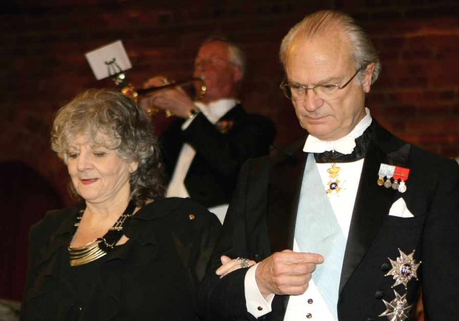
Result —
[[362, 70], [359, 68], [355, 74], [342, 86], [338, 84], [325, 84], [325, 85], [316, 85], [312, 88], [308, 88], [299, 84], [290, 84], [288, 83], [287, 78], [285, 78], [281, 83], [281, 89], [284, 91], [284, 95], [291, 100], [303, 100], [306, 96], [306, 91], [312, 89], [314, 94], [322, 100], [333, 100], [339, 97], [339, 89], [346, 87], [352, 79]]

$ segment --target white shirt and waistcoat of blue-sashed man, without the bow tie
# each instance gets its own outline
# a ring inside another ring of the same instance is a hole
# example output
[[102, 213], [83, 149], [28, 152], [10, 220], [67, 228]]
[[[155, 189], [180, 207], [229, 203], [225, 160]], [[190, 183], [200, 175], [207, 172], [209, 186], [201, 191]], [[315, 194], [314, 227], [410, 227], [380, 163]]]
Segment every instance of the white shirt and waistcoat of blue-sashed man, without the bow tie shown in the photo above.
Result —
[[[369, 118], [370, 122], [368, 122]], [[359, 128], [361, 129], [361, 132], [363, 132], [363, 130], [365, 130], [371, 123], [370, 111], [368, 109], [366, 109], [366, 117], [362, 120], [362, 122], [363, 121], [366, 121], [368, 125], [365, 124], [364, 128]], [[342, 189], [339, 192], [333, 191], [329, 194], [329, 200], [339, 226], [347, 239], [360, 175], [362, 172], [363, 159], [350, 163], [336, 163], [336, 166], [341, 168], [339, 172], [339, 179], [341, 180], [341, 183], [339, 186]], [[329, 182], [330, 177], [327, 169], [330, 167], [331, 164], [329, 163], [317, 164], [320, 178], [324, 182], [324, 191], [328, 189], [327, 183]], [[296, 239], [293, 240], [293, 251], [300, 251], [300, 248], [296, 243]], [[327, 260], [327, 258], [325, 258], [325, 260]], [[245, 275], [244, 288], [247, 311], [258, 318], [271, 311], [271, 303], [274, 299], [274, 294], [268, 295], [266, 300], [261, 295], [255, 280], [255, 271], [257, 266], [258, 264], [251, 266], [248, 269]], [[289, 297], [284, 321], [297, 320], [334, 320], [333, 315], [328, 309], [322, 295], [318, 292], [318, 289], [312, 279], [309, 281], [309, 287], [305, 293], [301, 295], [290, 295]]]

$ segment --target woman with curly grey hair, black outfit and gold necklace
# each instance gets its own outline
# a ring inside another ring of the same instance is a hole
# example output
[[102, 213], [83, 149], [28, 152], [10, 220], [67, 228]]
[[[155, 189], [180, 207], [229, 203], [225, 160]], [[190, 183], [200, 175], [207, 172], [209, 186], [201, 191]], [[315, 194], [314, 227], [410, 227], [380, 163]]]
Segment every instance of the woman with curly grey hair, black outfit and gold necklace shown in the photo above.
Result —
[[220, 223], [190, 199], [160, 196], [158, 142], [141, 109], [88, 90], [58, 111], [52, 148], [81, 201], [32, 226], [21, 319], [197, 319]]

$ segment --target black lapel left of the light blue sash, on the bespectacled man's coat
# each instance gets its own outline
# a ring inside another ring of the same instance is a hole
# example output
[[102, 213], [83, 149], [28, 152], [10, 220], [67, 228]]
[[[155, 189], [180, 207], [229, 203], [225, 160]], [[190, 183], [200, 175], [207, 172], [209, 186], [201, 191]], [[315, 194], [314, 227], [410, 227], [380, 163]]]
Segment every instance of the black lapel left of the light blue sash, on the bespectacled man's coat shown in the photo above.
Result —
[[267, 224], [271, 253], [293, 248], [296, 211], [306, 165], [305, 139], [271, 158]]

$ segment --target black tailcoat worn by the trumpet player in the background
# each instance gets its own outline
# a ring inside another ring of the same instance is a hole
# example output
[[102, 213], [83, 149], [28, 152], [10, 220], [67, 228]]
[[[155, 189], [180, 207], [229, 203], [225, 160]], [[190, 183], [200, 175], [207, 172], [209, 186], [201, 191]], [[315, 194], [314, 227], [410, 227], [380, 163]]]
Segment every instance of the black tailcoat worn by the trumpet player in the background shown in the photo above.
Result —
[[168, 179], [183, 144], [188, 143], [196, 150], [184, 182], [191, 199], [207, 208], [229, 203], [242, 164], [269, 153], [274, 125], [263, 116], [246, 113], [240, 104], [215, 125], [202, 113], [182, 130], [184, 121], [174, 121], [161, 136]]

